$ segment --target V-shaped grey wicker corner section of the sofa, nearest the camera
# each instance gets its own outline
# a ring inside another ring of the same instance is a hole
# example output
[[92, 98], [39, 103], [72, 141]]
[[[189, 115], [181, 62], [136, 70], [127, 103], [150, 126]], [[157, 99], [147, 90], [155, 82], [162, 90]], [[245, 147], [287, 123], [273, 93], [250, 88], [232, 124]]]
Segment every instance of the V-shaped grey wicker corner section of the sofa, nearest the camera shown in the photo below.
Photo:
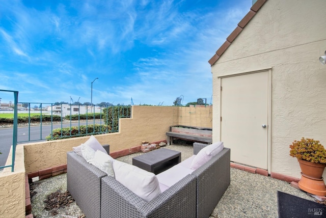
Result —
[[187, 175], [146, 202], [111, 176], [102, 178], [101, 217], [194, 217], [196, 177]]

